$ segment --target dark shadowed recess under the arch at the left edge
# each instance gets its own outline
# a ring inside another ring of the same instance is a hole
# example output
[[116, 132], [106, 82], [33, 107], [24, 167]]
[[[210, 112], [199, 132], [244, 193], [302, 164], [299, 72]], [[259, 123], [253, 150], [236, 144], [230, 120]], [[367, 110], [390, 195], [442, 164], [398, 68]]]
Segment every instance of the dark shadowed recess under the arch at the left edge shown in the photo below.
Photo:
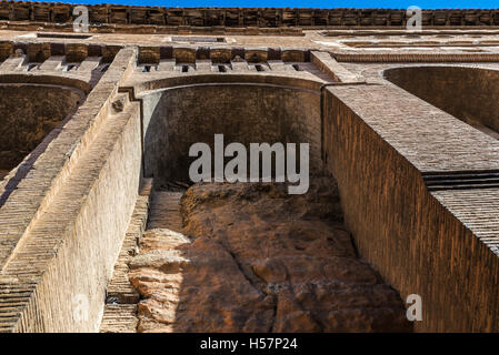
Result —
[[0, 206], [83, 101], [74, 88], [0, 84]]

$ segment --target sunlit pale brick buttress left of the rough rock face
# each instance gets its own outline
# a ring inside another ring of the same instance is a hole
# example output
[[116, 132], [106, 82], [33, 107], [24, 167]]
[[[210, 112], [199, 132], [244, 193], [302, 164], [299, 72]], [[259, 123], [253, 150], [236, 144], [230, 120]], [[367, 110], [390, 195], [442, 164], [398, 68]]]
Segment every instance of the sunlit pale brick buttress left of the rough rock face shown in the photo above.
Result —
[[134, 49], [117, 55], [0, 209], [0, 298], [11, 304], [0, 331], [98, 331], [141, 175], [139, 104], [118, 93], [136, 60]]

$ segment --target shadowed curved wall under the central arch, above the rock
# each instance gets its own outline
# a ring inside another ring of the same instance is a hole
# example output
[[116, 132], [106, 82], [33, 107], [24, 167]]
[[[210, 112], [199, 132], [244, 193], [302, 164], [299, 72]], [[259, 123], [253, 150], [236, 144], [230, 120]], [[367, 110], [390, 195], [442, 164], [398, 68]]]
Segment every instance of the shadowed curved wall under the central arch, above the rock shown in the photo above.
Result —
[[[143, 98], [144, 171], [154, 184], [188, 182], [189, 148], [240, 142], [310, 143], [310, 170], [321, 168], [318, 91], [262, 84], [198, 84]], [[229, 158], [230, 160], [230, 158]]]

